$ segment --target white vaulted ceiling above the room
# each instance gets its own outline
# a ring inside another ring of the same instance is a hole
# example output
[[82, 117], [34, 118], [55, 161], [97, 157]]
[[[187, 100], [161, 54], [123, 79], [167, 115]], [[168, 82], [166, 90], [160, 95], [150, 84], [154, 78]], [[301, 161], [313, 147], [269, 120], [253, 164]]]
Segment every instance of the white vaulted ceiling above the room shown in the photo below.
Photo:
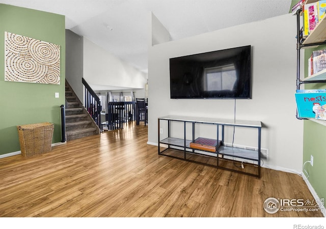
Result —
[[287, 14], [291, 0], [0, 0], [66, 16], [66, 28], [147, 72], [150, 12], [172, 40]]

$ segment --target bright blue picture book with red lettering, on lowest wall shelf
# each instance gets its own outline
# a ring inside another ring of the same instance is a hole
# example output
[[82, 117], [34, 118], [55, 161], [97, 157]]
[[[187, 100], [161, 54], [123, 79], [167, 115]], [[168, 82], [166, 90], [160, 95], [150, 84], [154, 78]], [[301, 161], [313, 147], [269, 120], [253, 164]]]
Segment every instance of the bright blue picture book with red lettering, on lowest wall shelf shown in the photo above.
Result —
[[298, 117], [326, 120], [326, 90], [296, 90]]

